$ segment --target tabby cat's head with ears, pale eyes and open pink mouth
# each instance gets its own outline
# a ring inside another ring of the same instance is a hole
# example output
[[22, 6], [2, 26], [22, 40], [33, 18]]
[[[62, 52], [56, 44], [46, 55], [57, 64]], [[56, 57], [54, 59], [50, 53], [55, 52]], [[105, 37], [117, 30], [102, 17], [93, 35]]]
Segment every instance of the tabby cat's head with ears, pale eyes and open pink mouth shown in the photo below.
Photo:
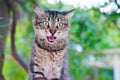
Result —
[[35, 6], [33, 11], [35, 13], [33, 20], [35, 35], [37, 35], [39, 39], [44, 39], [48, 43], [54, 43], [67, 38], [69, 30], [68, 19], [73, 15], [74, 9], [59, 12], [43, 10]]

